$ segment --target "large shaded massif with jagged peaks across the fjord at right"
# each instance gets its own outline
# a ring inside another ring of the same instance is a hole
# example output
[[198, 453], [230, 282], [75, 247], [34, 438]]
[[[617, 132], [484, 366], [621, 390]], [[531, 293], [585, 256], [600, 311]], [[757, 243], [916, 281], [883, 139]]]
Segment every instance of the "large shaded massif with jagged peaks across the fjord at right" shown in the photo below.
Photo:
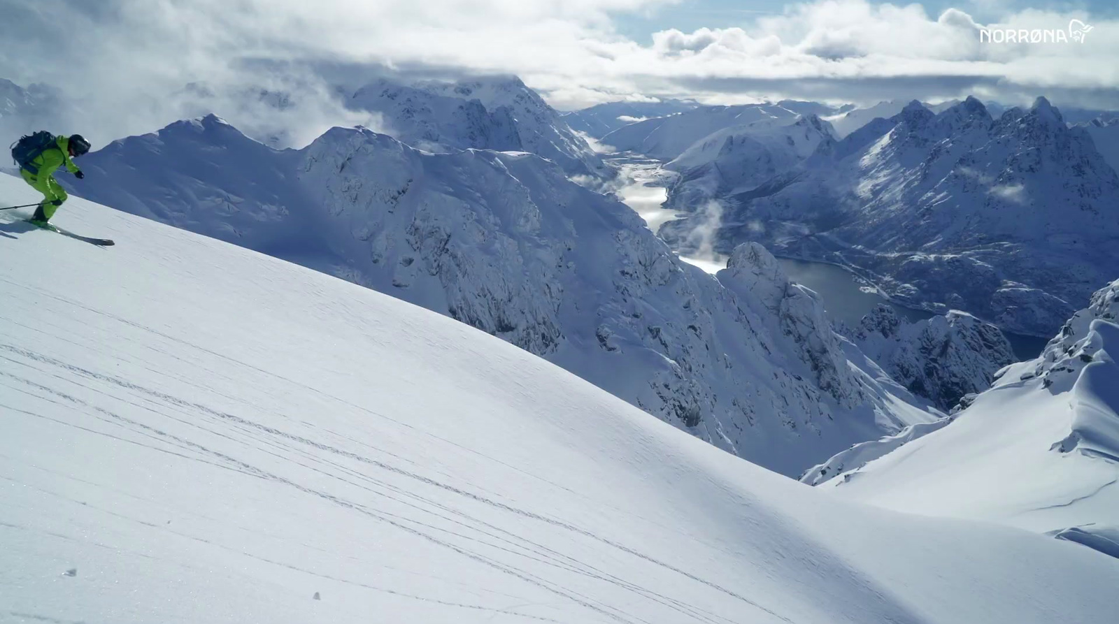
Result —
[[974, 97], [913, 102], [723, 204], [722, 253], [759, 240], [854, 266], [903, 304], [1016, 333], [1052, 333], [1119, 274], [1119, 177], [1044, 98], [998, 120]]

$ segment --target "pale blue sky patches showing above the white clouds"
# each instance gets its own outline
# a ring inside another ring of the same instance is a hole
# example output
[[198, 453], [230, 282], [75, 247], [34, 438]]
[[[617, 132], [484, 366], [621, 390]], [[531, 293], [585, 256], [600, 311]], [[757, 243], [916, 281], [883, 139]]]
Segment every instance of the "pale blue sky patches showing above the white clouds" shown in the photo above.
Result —
[[[897, 1], [897, 4], [914, 2]], [[1084, 10], [1093, 16], [1119, 16], [1117, 0], [1087, 0], [1078, 2], [1050, 2], [1029, 0], [930, 0], [915, 2], [922, 4], [930, 17], [935, 18], [944, 9], [957, 8], [967, 11], [977, 20], [995, 20], [1007, 11], [1024, 9]], [[622, 15], [615, 20], [615, 27], [638, 42], [649, 41], [651, 34], [675, 28], [684, 32], [697, 28], [746, 27], [761, 15], [779, 15], [790, 2], [780, 0], [683, 0], [681, 2], [649, 9], [646, 15]]]

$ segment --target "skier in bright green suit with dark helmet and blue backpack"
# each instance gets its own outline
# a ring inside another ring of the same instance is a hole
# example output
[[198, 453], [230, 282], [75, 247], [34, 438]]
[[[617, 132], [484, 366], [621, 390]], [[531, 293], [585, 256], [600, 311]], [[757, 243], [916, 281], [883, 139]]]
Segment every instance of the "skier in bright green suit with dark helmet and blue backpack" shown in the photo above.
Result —
[[31, 188], [43, 193], [43, 201], [35, 209], [35, 216], [29, 220], [39, 227], [48, 227], [47, 221], [55, 216], [58, 207], [66, 201], [66, 191], [54, 178], [55, 171], [66, 166], [66, 170], [78, 180], [85, 173], [74, 164], [72, 159], [90, 151], [90, 142], [81, 134], [55, 136], [41, 131], [23, 136], [11, 150], [11, 155], [19, 166], [19, 173]]

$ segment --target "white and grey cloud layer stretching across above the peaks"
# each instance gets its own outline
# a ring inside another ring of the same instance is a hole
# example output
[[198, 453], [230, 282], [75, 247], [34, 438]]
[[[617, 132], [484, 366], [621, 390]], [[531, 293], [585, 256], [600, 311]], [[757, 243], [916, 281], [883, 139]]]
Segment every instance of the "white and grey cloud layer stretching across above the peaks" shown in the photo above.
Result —
[[[920, 4], [824, 0], [742, 28], [665, 30], [648, 41], [615, 19], [675, 0], [0, 0], [0, 77], [76, 102], [59, 131], [100, 141], [215, 112], [250, 134], [300, 145], [379, 75], [517, 74], [553, 105], [638, 96], [731, 103], [975, 94], [1007, 103], [1119, 107], [1119, 22], [1024, 10], [978, 23]], [[980, 28], [1092, 25], [1083, 42], [980, 42]]]

